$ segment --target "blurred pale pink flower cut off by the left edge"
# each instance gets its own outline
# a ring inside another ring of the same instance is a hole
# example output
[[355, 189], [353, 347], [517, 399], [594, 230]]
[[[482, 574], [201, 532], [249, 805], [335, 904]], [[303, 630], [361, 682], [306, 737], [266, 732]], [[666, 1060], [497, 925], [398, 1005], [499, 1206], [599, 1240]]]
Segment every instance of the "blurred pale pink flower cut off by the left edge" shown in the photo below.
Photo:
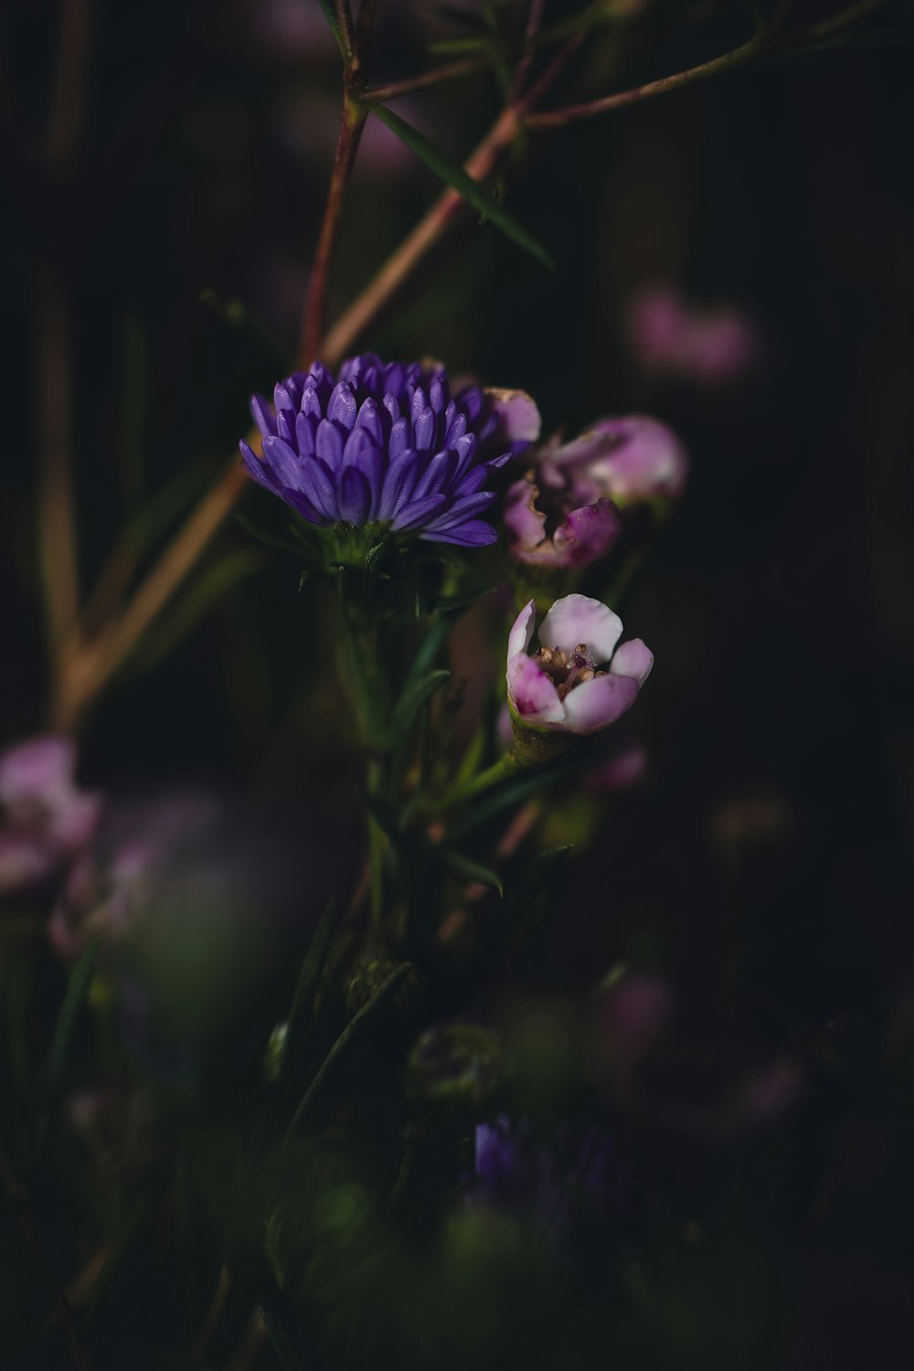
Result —
[[52, 733], [0, 755], [0, 895], [51, 880], [92, 839], [101, 797], [75, 786], [74, 765], [70, 739]]

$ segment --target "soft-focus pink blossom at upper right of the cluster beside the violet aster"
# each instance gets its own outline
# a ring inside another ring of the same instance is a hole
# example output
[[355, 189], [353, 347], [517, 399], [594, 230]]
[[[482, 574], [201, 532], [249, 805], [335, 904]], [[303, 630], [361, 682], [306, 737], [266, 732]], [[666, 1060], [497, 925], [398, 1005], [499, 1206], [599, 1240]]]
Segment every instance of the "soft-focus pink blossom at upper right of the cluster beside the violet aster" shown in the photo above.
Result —
[[599, 420], [571, 443], [545, 448], [537, 469], [543, 484], [565, 484], [578, 505], [611, 499], [618, 506], [678, 499], [688, 457], [676, 433], [643, 414]]

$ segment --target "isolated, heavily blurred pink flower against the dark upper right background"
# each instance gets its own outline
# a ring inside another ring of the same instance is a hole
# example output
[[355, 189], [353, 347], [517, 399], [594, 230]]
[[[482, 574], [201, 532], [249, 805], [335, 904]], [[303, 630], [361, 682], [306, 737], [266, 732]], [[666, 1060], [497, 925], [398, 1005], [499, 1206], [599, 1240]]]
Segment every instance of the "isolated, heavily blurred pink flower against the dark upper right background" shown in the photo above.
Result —
[[674, 288], [651, 287], [629, 303], [625, 328], [644, 372], [725, 385], [762, 359], [758, 325], [734, 306], [696, 307]]

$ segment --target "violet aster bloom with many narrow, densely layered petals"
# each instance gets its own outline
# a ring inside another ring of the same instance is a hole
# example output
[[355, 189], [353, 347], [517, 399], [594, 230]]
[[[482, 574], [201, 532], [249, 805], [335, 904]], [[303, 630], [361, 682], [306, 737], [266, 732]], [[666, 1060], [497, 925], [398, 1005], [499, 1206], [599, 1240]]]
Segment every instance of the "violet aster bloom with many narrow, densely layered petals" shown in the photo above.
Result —
[[433, 363], [349, 358], [338, 378], [315, 362], [281, 381], [270, 406], [251, 400], [263, 461], [241, 443], [248, 472], [310, 524], [370, 525], [433, 543], [482, 547], [497, 537], [482, 515], [495, 468], [539, 433], [518, 391], [477, 387], [451, 396]]

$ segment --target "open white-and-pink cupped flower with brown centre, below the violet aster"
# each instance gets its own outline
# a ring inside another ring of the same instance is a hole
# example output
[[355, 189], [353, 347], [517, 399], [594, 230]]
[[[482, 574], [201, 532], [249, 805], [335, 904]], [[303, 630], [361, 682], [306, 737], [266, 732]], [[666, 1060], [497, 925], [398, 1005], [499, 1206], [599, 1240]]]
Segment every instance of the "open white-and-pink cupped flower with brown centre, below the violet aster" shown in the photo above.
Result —
[[508, 705], [515, 724], [595, 733], [630, 709], [654, 654], [640, 638], [615, 647], [622, 635], [618, 614], [586, 595], [566, 595], [543, 620], [540, 650], [529, 657], [534, 620], [530, 600], [508, 635]]

